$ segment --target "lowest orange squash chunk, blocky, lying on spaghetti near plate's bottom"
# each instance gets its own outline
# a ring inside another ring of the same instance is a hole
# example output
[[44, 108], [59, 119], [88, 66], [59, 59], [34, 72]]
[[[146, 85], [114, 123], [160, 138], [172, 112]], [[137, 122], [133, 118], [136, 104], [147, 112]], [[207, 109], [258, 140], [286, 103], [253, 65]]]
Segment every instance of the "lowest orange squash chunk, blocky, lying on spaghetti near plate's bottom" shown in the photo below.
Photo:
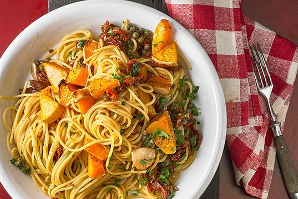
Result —
[[99, 178], [105, 175], [104, 162], [88, 153], [88, 176]]

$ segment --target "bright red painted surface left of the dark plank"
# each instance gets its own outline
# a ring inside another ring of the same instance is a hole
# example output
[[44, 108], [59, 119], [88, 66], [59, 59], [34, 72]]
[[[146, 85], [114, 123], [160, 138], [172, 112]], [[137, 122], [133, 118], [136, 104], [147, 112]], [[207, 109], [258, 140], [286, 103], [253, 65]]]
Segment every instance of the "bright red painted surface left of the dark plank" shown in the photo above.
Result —
[[[0, 0], [0, 56], [30, 23], [48, 12], [48, 0]], [[0, 199], [11, 199], [0, 184]]]

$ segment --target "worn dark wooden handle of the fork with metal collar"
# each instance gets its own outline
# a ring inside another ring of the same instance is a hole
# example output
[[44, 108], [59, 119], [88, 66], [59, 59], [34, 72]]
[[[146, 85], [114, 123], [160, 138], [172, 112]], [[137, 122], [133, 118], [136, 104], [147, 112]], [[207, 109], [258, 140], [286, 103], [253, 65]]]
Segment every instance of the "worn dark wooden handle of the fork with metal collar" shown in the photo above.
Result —
[[[279, 124], [272, 125], [271, 128], [273, 131], [280, 129]], [[295, 169], [295, 166], [292, 161], [292, 157], [286, 141], [283, 135], [274, 137], [275, 148], [277, 152], [277, 158], [280, 166], [280, 170], [291, 199], [298, 199], [298, 175]]]

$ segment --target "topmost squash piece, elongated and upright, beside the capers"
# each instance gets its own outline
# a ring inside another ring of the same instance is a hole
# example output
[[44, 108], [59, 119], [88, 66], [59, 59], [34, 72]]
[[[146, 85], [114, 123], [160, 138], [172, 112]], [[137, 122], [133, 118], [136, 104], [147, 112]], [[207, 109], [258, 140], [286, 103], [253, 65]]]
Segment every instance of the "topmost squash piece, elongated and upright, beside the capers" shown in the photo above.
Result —
[[152, 55], [158, 53], [166, 46], [172, 27], [166, 19], [161, 19], [157, 24], [152, 40]]

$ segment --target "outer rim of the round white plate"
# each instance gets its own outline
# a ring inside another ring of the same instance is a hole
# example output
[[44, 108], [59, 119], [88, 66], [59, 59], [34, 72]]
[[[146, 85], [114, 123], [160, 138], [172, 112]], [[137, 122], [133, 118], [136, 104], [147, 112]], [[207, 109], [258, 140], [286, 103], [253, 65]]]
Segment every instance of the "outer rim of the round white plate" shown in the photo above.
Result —
[[[200, 197], [206, 188], [209, 186], [211, 180], [213, 179], [219, 164], [220, 160], [223, 154], [224, 150], [224, 143], [225, 143], [225, 135], [226, 135], [226, 108], [225, 108], [225, 100], [224, 100], [224, 92], [223, 88], [221, 86], [221, 82], [219, 79], [219, 76], [215, 70], [215, 67], [209, 58], [208, 54], [202, 47], [202, 45], [195, 39], [195, 37], [185, 28], [183, 27], [180, 23], [178, 23], [175, 19], [171, 18], [170, 16], [164, 14], [163, 12], [156, 10], [152, 7], [149, 7], [147, 5], [141, 4], [141, 3], [136, 3], [132, 1], [124, 1], [124, 0], [83, 0], [83, 1], [78, 1], [74, 2], [71, 4], [64, 5], [62, 7], [59, 7], [55, 10], [52, 10], [45, 15], [39, 17], [35, 21], [33, 21], [30, 25], [28, 25], [24, 30], [22, 30], [16, 38], [9, 44], [9, 46], [6, 48], [4, 53], [2, 54], [0, 58], [0, 73], [2, 73], [5, 69], [2, 67], [6, 62], [9, 62], [9, 54], [14, 51], [14, 49], [17, 49], [18, 44], [22, 43], [22, 39], [26, 38], [26, 34], [33, 30], [35, 27], [38, 26], [40, 22], [42, 22], [46, 18], [51, 18], [52, 16], [56, 15], [59, 12], [63, 12], [64, 10], [71, 9], [74, 6], [79, 6], [80, 4], [83, 3], [116, 3], [116, 4], [122, 4], [123, 6], [125, 5], [130, 5], [130, 6], [135, 6], [138, 9], [146, 9], [153, 14], [159, 15], [164, 18], [171, 19], [173, 22], [176, 23], [176, 25], [179, 27], [179, 31], [182, 31], [184, 34], [188, 35], [189, 39], [195, 43], [196, 46], [198, 46], [198, 50], [201, 52], [202, 56], [204, 57], [205, 61], [207, 62], [207, 65], [209, 66], [209, 69], [211, 70], [211, 73], [213, 74], [213, 78], [215, 81], [215, 89], [217, 92], [213, 92], [215, 96], [215, 105], [216, 105], [216, 110], [217, 110], [217, 128], [216, 128], [216, 142], [215, 146], [212, 151], [212, 158], [210, 158], [209, 162], [211, 161], [211, 167], [206, 169], [207, 172], [205, 172], [202, 175], [202, 178], [206, 179], [203, 183], [203, 185], [196, 190], [196, 194], [194, 195], [194, 198]], [[209, 164], [208, 162], [208, 164]], [[17, 187], [11, 186], [12, 184], [9, 183], [9, 176], [4, 172], [4, 166], [2, 165], [2, 162], [0, 160], [0, 183], [2, 183], [2, 186], [6, 190], [6, 192], [10, 195], [12, 199], [16, 199], [19, 197]]]

